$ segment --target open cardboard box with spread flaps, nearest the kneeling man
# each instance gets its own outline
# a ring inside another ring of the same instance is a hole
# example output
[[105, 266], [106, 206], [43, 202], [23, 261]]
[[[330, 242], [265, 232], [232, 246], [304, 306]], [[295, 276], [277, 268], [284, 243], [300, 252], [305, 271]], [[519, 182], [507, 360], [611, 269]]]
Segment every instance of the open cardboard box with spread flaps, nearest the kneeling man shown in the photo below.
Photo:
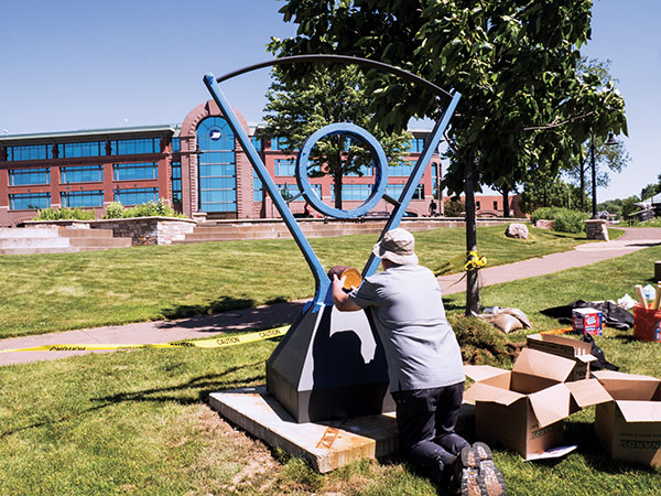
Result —
[[556, 448], [563, 420], [584, 407], [611, 400], [596, 379], [565, 382], [575, 362], [523, 348], [512, 370], [465, 366], [475, 380], [464, 401], [474, 403], [476, 438], [527, 460]]

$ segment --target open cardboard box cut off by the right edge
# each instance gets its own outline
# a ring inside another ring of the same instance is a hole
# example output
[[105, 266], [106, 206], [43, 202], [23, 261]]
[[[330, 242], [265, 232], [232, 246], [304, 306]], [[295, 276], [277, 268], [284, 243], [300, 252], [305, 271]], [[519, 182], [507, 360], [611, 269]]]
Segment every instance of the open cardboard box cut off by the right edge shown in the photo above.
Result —
[[661, 380], [611, 370], [594, 375], [613, 397], [595, 416], [595, 433], [610, 457], [661, 466]]

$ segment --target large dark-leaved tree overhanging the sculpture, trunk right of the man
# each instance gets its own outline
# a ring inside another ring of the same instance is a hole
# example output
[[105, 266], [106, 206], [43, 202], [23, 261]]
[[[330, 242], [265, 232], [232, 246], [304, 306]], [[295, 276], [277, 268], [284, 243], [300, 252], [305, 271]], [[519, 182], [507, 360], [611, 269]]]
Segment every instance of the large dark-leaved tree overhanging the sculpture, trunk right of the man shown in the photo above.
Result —
[[[475, 250], [474, 192], [513, 187], [530, 169], [557, 171], [590, 134], [626, 132], [624, 100], [592, 73], [578, 75], [590, 0], [289, 0], [295, 36], [279, 55], [340, 53], [392, 64], [462, 93], [447, 132], [449, 194], [466, 194], [466, 249]], [[388, 129], [438, 117], [443, 105], [411, 84], [370, 73], [371, 108]], [[466, 313], [479, 308], [477, 270]]]

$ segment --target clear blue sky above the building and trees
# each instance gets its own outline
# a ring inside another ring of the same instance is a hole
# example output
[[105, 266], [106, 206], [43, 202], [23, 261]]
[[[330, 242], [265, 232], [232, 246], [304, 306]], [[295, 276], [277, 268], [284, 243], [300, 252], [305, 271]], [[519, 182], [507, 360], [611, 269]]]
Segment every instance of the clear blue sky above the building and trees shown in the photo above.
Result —
[[[269, 60], [270, 36], [294, 33], [273, 0], [0, 0], [0, 133], [181, 122], [208, 99], [202, 83]], [[596, 0], [583, 52], [610, 60], [627, 104], [632, 158], [599, 201], [639, 194], [661, 173], [660, 0]], [[260, 120], [268, 71], [224, 84]]]

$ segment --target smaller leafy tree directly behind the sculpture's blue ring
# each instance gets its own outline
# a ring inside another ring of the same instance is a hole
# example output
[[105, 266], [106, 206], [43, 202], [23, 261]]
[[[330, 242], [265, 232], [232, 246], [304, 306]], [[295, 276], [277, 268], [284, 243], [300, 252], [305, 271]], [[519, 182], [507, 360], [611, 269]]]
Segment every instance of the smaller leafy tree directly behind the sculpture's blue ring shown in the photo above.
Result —
[[[279, 42], [274, 41], [273, 46]], [[286, 79], [282, 69], [273, 69], [273, 83], [267, 93], [266, 126], [261, 136], [284, 138], [282, 149], [293, 152], [316, 130], [334, 122], [351, 122], [370, 131], [383, 147], [389, 164], [395, 165], [413, 138], [409, 132], [384, 132], [365, 105], [365, 76], [356, 66], [314, 67], [304, 78]], [[319, 140], [312, 154], [308, 175], [330, 175], [335, 207], [342, 208], [343, 179], [364, 175], [372, 157], [361, 142], [335, 134]]]

